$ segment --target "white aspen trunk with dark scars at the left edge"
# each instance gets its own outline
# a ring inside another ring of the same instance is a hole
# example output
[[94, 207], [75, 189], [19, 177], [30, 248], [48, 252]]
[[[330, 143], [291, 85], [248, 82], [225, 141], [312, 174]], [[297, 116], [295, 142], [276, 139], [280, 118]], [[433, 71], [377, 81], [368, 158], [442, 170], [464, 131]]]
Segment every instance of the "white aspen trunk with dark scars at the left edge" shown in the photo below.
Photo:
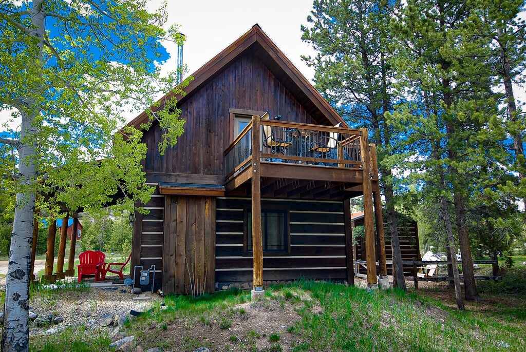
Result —
[[[32, 27], [29, 36], [39, 38], [39, 51], [33, 63], [42, 65], [44, 47], [43, 0], [33, 1], [31, 9]], [[36, 127], [33, 121], [39, 109], [31, 98], [24, 99], [27, 110], [22, 110], [20, 140], [18, 149], [19, 184], [22, 189], [36, 180], [35, 139]], [[28, 112], [29, 111], [29, 112]], [[27, 191], [26, 191], [27, 192]], [[9, 263], [6, 277], [4, 329], [2, 331], [2, 351], [29, 351], [29, 272], [31, 267], [31, 247], [33, 243], [33, 225], [35, 218], [35, 193], [19, 192], [16, 195], [15, 218], [9, 249]]]

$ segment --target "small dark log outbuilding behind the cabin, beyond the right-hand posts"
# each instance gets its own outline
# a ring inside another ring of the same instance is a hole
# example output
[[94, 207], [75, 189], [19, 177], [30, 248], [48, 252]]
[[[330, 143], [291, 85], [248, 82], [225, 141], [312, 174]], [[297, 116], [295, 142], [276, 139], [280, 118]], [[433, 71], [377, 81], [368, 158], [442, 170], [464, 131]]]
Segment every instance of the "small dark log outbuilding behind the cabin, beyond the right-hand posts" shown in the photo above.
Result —
[[[400, 252], [402, 254], [402, 261], [412, 261], [413, 258], [422, 260], [420, 255], [420, 242], [418, 240], [418, 222], [409, 218], [409, 216], [396, 213], [397, 217], [397, 228], [398, 237], [400, 239]], [[392, 247], [391, 247], [391, 235], [389, 232], [389, 221], [383, 223], [383, 227], [386, 231], [385, 245], [386, 245], [386, 260], [390, 264], [392, 263]], [[356, 212], [351, 214], [352, 229], [356, 226], [363, 226], [365, 222], [365, 215], [363, 212]], [[363, 236], [358, 237], [357, 244], [355, 245], [355, 255], [357, 261], [366, 260], [366, 249], [365, 249], [365, 238]], [[359, 271], [361, 274], [365, 274], [363, 268]], [[392, 275], [392, 265], [387, 265], [387, 274]], [[405, 276], [413, 276], [413, 266], [403, 265], [403, 274]]]

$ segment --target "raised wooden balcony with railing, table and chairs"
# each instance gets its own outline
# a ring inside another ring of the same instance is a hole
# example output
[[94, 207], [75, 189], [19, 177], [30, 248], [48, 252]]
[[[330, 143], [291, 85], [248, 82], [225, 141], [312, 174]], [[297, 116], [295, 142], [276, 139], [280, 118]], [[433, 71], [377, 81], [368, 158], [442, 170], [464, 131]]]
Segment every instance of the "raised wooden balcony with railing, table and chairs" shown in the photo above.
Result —
[[251, 194], [253, 157], [264, 198], [343, 200], [362, 194], [367, 130], [261, 119], [254, 131], [254, 118], [225, 150], [227, 195]]

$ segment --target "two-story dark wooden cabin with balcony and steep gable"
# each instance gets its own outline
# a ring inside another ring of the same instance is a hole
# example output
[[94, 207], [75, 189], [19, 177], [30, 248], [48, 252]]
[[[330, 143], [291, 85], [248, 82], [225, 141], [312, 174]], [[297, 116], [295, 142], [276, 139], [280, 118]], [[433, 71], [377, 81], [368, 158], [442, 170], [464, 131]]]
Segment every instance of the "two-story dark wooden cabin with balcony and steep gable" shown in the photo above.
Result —
[[349, 128], [257, 24], [192, 76], [177, 97], [186, 121], [177, 144], [160, 155], [158, 124], [144, 131], [155, 193], [149, 213], [134, 214], [132, 269], [155, 265], [156, 285], [175, 294], [249, 283], [257, 297], [264, 282], [298, 278], [353, 283], [349, 199], [363, 194], [375, 287], [380, 196], [367, 129]]

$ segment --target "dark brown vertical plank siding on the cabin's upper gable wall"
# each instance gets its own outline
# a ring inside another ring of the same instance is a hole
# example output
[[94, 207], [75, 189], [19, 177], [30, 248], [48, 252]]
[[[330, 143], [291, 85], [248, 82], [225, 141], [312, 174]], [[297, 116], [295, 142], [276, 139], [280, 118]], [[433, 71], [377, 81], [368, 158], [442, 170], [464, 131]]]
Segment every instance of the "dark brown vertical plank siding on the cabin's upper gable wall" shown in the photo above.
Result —
[[[250, 51], [232, 62], [179, 106], [185, 132], [160, 156], [161, 130], [154, 124], [143, 136], [147, 173], [225, 175], [224, 151], [233, 139], [229, 109], [268, 110], [282, 120], [316, 123], [305, 108]], [[149, 179], [149, 181], [151, 178]], [[174, 181], [171, 181], [174, 182]], [[194, 182], [198, 182], [195, 180]]]

